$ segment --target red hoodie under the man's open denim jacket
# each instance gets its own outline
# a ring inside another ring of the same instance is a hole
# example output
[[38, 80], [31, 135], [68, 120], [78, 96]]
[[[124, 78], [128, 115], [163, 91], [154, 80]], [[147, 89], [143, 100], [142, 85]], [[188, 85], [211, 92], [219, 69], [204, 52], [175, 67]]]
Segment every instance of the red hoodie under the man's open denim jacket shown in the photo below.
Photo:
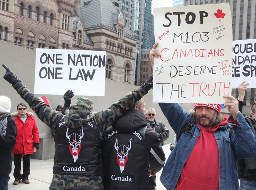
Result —
[[213, 132], [225, 125], [227, 119], [224, 116], [224, 121], [211, 130], [198, 124], [200, 136], [183, 166], [175, 190], [219, 190], [219, 148]]

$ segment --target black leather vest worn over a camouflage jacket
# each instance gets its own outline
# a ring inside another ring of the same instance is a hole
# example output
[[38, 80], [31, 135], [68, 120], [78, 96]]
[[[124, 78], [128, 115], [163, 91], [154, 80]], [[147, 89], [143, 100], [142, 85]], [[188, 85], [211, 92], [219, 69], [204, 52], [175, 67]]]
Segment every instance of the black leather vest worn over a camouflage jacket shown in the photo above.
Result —
[[101, 138], [95, 122], [70, 128], [64, 117], [54, 130], [55, 155], [53, 174], [100, 175]]

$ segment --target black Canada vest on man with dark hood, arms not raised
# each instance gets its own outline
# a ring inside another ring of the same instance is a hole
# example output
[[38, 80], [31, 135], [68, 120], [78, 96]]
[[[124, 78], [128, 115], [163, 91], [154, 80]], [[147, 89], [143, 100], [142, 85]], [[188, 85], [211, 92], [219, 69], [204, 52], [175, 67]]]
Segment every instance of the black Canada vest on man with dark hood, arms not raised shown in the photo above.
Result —
[[103, 135], [103, 184], [107, 187], [142, 189], [149, 185], [146, 127], [122, 133], [109, 127]]

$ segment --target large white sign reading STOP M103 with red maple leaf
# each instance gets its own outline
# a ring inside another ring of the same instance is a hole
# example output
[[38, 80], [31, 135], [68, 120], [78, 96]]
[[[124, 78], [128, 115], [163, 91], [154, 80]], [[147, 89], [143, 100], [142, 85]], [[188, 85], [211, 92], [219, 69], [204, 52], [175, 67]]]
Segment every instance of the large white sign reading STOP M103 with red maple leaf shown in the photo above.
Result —
[[224, 103], [231, 95], [232, 22], [228, 3], [154, 9], [153, 102]]

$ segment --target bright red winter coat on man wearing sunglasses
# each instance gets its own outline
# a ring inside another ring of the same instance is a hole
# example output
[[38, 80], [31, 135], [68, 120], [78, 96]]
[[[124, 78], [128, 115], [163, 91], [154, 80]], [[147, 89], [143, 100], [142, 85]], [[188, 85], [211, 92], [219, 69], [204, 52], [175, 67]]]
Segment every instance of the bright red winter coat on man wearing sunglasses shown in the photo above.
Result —
[[36, 119], [33, 113], [26, 114], [27, 119], [25, 123], [23, 123], [18, 114], [12, 117], [17, 126], [17, 140], [12, 151], [13, 154], [33, 154], [33, 143], [39, 143]]

